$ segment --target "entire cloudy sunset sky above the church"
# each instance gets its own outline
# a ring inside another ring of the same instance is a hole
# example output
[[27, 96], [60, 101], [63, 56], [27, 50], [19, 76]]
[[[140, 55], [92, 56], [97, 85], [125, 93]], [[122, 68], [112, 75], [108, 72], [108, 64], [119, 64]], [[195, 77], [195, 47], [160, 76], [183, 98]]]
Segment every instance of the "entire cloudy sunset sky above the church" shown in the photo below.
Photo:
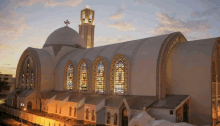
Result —
[[79, 31], [86, 5], [95, 11], [95, 47], [176, 31], [188, 41], [219, 37], [219, 0], [0, 0], [0, 73], [15, 77], [24, 50], [42, 48], [66, 19]]

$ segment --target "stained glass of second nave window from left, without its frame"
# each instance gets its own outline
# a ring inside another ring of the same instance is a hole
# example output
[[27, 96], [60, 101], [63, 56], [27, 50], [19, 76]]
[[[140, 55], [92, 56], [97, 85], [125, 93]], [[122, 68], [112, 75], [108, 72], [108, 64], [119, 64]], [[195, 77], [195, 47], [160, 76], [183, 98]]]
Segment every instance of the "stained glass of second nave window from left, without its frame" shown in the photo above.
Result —
[[87, 90], [87, 65], [86, 63], [82, 63], [81, 70], [80, 70], [80, 91], [86, 91]]

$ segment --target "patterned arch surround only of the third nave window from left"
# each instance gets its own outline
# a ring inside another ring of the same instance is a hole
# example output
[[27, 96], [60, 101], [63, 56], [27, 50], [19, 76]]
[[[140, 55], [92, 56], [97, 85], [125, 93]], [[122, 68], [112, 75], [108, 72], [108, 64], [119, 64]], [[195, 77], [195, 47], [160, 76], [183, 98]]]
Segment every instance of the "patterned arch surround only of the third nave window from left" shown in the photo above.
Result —
[[[98, 74], [98, 69], [99, 69], [99, 65], [100, 63], [103, 64], [103, 73], [100, 73], [100, 76], [97, 77]], [[93, 62], [93, 73], [92, 73], [92, 92], [95, 93], [97, 90], [97, 79], [100, 78], [102, 79], [102, 83], [103, 83], [103, 93], [106, 93], [106, 70], [107, 70], [107, 63], [106, 60], [99, 56], [95, 59], [95, 61]]]

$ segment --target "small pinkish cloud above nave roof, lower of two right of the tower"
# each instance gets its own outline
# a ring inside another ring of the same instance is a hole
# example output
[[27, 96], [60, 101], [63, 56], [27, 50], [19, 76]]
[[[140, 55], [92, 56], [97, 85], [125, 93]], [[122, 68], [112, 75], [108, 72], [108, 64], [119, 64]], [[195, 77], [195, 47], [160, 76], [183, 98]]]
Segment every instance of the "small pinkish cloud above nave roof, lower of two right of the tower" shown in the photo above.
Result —
[[132, 26], [130, 23], [125, 23], [124, 21], [119, 21], [111, 25], [107, 25], [108, 27], [112, 27], [118, 29], [120, 31], [135, 31], [136, 27]]

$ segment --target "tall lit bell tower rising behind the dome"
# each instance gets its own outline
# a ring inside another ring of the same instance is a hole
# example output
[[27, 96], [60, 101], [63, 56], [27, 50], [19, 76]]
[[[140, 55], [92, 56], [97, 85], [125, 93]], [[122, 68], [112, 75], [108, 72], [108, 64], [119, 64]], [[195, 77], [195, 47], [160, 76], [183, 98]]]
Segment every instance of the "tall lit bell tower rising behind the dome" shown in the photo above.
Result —
[[87, 48], [94, 47], [94, 10], [89, 9], [89, 5], [81, 10], [79, 35], [84, 39]]

